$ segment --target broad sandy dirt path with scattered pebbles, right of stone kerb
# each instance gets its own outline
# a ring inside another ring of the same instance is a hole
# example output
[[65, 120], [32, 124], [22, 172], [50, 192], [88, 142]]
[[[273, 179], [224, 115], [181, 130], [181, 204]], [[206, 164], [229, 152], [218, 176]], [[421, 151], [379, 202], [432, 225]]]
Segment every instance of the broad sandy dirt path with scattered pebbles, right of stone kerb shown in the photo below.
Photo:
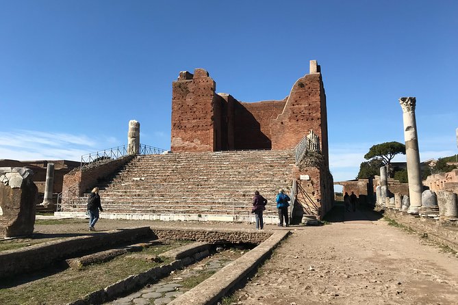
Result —
[[455, 255], [369, 211], [334, 220], [293, 230], [235, 304], [458, 304]]

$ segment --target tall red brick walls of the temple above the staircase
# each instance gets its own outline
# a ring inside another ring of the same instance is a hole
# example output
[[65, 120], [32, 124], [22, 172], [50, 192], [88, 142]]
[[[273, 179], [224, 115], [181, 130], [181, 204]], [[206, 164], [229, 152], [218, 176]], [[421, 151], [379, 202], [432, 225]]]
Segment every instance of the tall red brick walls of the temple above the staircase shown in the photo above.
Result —
[[203, 69], [181, 72], [173, 82], [171, 150], [292, 149], [309, 130], [320, 137], [325, 163], [326, 95], [320, 73], [305, 75], [283, 101], [240, 103], [215, 93]]

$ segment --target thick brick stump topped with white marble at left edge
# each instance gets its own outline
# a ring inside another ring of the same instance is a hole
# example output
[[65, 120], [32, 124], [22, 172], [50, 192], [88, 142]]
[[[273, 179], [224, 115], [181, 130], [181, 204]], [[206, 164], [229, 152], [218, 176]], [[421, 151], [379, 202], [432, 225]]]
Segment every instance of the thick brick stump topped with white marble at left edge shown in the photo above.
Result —
[[27, 168], [0, 168], [0, 237], [34, 232], [38, 189]]

